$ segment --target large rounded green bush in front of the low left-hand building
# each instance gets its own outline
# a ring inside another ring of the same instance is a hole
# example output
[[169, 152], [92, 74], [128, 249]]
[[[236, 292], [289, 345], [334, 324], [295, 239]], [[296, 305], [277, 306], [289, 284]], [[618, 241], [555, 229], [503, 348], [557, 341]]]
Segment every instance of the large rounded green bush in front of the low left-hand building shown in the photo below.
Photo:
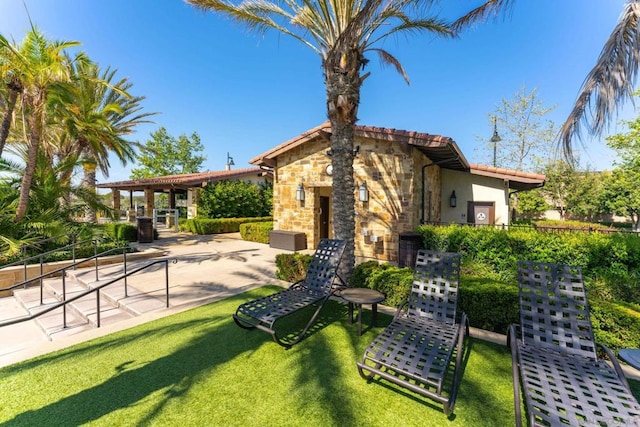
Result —
[[[271, 215], [272, 186], [249, 181], [220, 181], [206, 186], [198, 200], [198, 216], [251, 218]], [[256, 203], [257, 201], [257, 203]]]

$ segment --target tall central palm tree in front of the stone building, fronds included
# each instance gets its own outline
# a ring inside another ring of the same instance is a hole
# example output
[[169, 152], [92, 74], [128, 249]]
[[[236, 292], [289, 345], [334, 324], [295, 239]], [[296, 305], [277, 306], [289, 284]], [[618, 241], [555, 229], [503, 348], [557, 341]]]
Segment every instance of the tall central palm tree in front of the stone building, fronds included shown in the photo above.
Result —
[[360, 88], [369, 73], [365, 54], [375, 52], [383, 64], [392, 65], [409, 82], [400, 62], [376, 45], [389, 36], [432, 33], [453, 37], [456, 30], [496, 13], [511, 0], [489, 0], [447, 23], [431, 13], [437, 0], [187, 0], [204, 10], [220, 12], [264, 33], [276, 30], [300, 41], [320, 55], [326, 86], [327, 115], [331, 123], [333, 164], [333, 224], [335, 236], [348, 242], [343, 274], [354, 257], [353, 179], [354, 125], [358, 119]]

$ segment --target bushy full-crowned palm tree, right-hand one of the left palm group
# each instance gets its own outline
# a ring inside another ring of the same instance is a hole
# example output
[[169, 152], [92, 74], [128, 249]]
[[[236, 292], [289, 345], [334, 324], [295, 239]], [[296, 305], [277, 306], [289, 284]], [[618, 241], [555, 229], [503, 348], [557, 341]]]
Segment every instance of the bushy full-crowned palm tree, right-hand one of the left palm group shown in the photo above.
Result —
[[[81, 54], [82, 55], [82, 54]], [[132, 83], [127, 78], [114, 81], [117, 70], [100, 71], [88, 60], [68, 60], [71, 65], [70, 89], [57, 99], [60, 106], [65, 143], [56, 147], [57, 156], [76, 155], [83, 164], [85, 191], [95, 191], [96, 169], [109, 176], [109, 154], [122, 162], [135, 158], [137, 143], [125, 139], [147, 117], [142, 113], [142, 96], [131, 96]], [[68, 172], [62, 179], [69, 180]], [[85, 220], [95, 222], [95, 210], [88, 207]]]

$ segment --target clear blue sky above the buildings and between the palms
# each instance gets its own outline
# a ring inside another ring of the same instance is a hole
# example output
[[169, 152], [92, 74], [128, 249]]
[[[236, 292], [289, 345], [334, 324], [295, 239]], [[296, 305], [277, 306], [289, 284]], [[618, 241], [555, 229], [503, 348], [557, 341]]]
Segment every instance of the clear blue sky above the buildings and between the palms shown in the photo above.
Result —
[[[442, 0], [456, 17], [480, 0]], [[560, 124], [613, 29], [623, 0], [519, 0], [508, 16], [477, 25], [458, 39], [416, 36], [382, 47], [405, 67], [411, 85], [375, 57], [368, 65], [359, 124], [452, 137], [480, 162], [477, 136], [490, 137], [488, 114], [523, 86], [538, 89], [549, 119]], [[132, 139], [159, 126], [170, 134], [198, 132], [205, 170], [235, 167], [326, 120], [320, 58], [299, 42], [249, 33], [181, 0], [26, 0], [32, 21], [50, 39], [82, 42], [100, 65], [128, 77], [131, 93], [159, 112]], [[0, 33], [22, 40], [29, 20], [22, 0], [0, 0]], [[621, 118], [632, 118], [625, 108]], [[613, 123], [610, 133], [624, 130]], [[583, 164], [610, 167], [601, 140], [585, 138]], [[108, 178], [129, 178], [132, 165], [112, 162]]]

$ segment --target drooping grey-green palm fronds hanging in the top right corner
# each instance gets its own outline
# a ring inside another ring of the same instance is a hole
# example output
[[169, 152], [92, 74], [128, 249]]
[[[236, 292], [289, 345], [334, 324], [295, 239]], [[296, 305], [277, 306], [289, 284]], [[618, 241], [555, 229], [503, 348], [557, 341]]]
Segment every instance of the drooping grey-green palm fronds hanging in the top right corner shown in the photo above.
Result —
[[567, 160], [574, 161], [572, 141], [580, 138], [581, 125], [591, 135], [601, 135], [621, 104], [632, 97], [639, 65], [640, 0], [627, 0], [618, 24], [560, 129], [559, 139]]

